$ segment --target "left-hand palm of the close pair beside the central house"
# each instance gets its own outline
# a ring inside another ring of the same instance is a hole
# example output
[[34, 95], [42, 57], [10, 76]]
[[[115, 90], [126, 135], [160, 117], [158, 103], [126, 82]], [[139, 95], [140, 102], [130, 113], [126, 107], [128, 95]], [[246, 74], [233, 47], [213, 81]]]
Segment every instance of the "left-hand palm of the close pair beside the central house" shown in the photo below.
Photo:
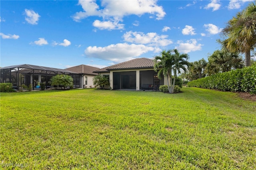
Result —
[[163, 50], [160, 55], [154, 57], [154, 70], [158, 72], [157, 76], [159, 79], [161, 79], [162, 75], [168, 78], [167, 86], [169, 93], [172, 92], [172, 67], [174, 65], [171, 52], [171, 50]]

